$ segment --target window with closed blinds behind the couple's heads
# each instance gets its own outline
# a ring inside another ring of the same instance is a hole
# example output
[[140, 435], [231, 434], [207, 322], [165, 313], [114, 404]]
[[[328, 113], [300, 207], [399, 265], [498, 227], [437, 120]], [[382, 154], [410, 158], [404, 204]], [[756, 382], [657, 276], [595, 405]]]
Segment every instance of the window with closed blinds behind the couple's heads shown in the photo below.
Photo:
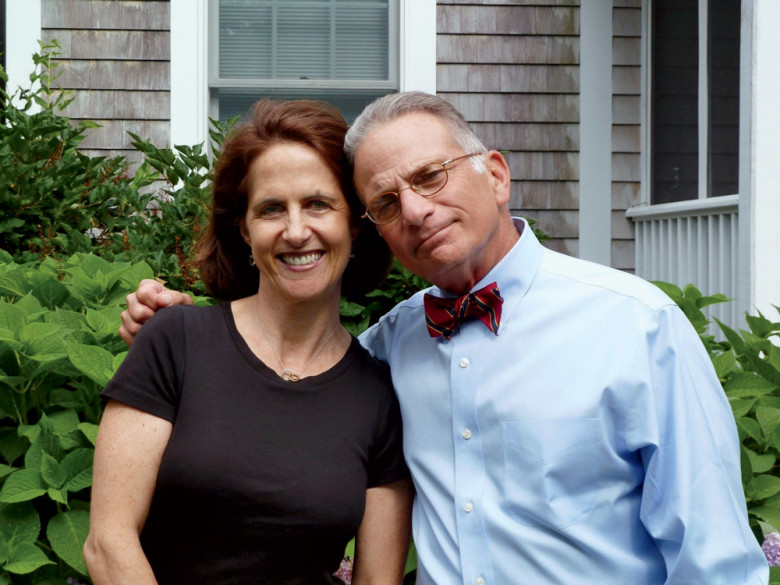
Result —
[[324, 99], [351, 121], [399, 89], [398, 0], [213, 0], [213, 117], [261, 97]]

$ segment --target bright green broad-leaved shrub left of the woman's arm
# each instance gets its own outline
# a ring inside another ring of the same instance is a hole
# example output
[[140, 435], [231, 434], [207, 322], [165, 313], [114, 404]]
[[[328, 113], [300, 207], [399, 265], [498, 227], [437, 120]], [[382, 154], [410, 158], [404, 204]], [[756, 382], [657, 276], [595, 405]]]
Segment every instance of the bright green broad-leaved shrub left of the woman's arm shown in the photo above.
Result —
[[0, 583], [86, 574], [99, 393], [127, 351], [124, 296], [151, 276], [94, 255], [17, 264], [0, 252]]

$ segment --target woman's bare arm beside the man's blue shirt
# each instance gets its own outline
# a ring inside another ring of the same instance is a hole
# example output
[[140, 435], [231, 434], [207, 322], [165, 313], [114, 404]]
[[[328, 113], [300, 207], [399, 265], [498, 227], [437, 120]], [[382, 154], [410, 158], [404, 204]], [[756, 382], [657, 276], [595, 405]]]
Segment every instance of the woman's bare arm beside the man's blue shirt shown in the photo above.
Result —
[[399, 585], [403, 581], [413, 498], [410, 479], [366, 491], [366, 512], [355, 539], [353, 585]]

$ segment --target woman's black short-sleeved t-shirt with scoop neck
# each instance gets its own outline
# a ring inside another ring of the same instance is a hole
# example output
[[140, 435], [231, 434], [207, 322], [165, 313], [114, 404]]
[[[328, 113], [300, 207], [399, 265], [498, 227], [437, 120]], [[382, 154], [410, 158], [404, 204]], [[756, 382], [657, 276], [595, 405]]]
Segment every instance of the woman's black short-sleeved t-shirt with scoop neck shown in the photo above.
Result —
[[386, 364], [353, 339], [285, 382], [229, 304], [160, 311], [103, 395], [173, 422], [141, 534], [160, 585], [337, 583], [366, 489], [408, 476]]

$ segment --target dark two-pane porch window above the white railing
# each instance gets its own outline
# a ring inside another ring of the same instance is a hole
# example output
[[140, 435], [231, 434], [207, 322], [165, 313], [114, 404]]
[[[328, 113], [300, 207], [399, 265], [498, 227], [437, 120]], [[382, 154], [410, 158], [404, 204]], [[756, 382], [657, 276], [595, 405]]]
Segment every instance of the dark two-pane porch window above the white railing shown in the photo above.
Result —
[[651, 202], [734, 195], [740, 0], [653, 0]]

